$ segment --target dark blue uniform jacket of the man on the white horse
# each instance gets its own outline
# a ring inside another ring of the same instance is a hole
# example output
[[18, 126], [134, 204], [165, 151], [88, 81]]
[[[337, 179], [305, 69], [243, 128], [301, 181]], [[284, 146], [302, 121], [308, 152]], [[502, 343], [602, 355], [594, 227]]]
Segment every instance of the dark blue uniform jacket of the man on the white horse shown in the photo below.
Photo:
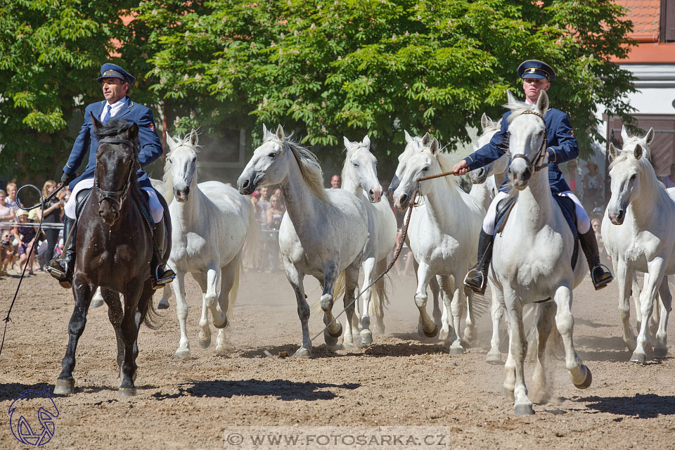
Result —
[[[464, 158], [470, 170], [483, 167], [506, 153], [508, 146], [507, 117], [510, 113], [510, 111], [507, 111], [503, 115], [501, 129], [492, 136], [489, 143]], [[567, 186], [563, 178], [563, 173], [558, 169], [560, 162], [573, 160], [579, 155], [579, 145], [572, 132], [570, 117], [567, 117], [567, 114], [561, 110], [551, 108], [544, 115], [544, 120], [546, 121], [546, 136], [548, 138], [546, 153], [548, 154], [548, 182], [551, 184], [551, 191], [553, 193], [570, 191], [570, 187]], [[507, 183], [508, 178], [504, 180], [500, 191], [506, 188]]]

